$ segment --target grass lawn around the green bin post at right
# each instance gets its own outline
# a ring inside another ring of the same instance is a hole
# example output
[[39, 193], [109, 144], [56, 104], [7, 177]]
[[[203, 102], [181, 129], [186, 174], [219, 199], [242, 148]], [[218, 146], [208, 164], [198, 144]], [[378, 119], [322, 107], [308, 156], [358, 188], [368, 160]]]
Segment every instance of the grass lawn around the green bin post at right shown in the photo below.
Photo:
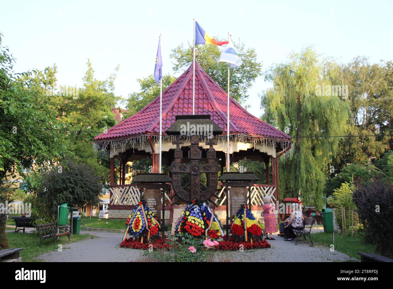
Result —
[[[332, 233], [314, 233], [311, 234], [312, 241], [317, 245], [325, 245], [330, 248], [332, 244]], [[377, 253], [375, 246], [367, 243], [364, 239], [364, 234], [358, 232], [358, 237], [351, 237], [347, 234], [334, 234], [334, 250], [347, 254], [353, 258], [360, 260], [358, 252]]]

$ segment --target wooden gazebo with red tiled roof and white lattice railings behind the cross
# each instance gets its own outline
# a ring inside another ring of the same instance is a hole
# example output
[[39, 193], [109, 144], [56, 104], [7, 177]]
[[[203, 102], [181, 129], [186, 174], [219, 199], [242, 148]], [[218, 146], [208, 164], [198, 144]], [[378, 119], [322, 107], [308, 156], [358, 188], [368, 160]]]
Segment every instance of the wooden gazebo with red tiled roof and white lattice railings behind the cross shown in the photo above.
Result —
[[[174, 122], [176, 116], [191, 115], [193, 108], [193, 64], [167, 87], [162, 94], [162, 131], [165, 132]], [[95, 137], [94, 149], [109, 151], [111, 159], [110, 172], [110, 217], [127, 217], [132, 206], [136, 204], [139, 191], [133, 184], [125, 182], [125, 164], [133, 160], [152, 158], [153, 173], [158, 173], [159, 160], [159, 132], [160, 132], [160, 96], [157, 96], [142, 110], [121, 121], [107, 132]], [[238, 162], [247, 157], [250, 160], [264, 162], [266, 165], [266, 183], [254, 184], [250, 188], [252, 205], [262, 205], [264, 195], [272, 196], [278, 201], [278, 166], [277, 159], [291, 150], [291, 137], [275, 127], [256, 118], [245, 110], [234, 99], [230, 99], [230, 149], [227, 151], [227, 94], [209, 77], [195, 62], [195, 114], [210, 115], [211, 120], [223, 131], [214, 135], [217, 142], [214, 146], [217, 152], [217, 163], [221, 171], [225, 170], [226, 156], [230, 154], [230, 162]], [[184, 137], [182, 150], [187, 151], [189, 136]], [[174, 160], [176, 145], [172, 142], [173, 135], [163, 133], [162, 137], [162, 165], [170, 166]], [[209, 149], [202, 138], [202, 160], [204, 150]], [[184, 156], [187, 152], [184, 153]], [[120, 176], [118, 184], [114, 183], [115, 162], [118, 158]], [[272, 171], [269, 171], [269, 164]], [[270, 175], [272, 183], [270, 183]], [[218, 188], [220, 195], [224, 188]], [[171, 192], [168, 193], [168, 199]], [[222, 203], [221, 203], [222, 204]], [[168, 206], [173, 216], [174, 206]], [[167, 209], [165, 209], [167, 210]], [[175, 216], [177, 217], [177, 216]], [[172, 220], [171, 220], [172, 221]]]

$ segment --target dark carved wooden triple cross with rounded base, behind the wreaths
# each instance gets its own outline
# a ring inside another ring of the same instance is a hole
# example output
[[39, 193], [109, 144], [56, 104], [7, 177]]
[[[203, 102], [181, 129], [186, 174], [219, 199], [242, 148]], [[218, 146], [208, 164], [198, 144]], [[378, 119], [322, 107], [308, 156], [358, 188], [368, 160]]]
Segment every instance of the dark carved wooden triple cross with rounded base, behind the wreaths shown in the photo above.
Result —
[[[208, 164], [200, 164], [199, 140], [199, 136], [191, 136], [189, 164], [182, 163], [183, 152], [180, 149], [180, 144], [184, 142], [180, 140], [180, 136], [176, 136], [176, 140], [172, 142], [172, 144], [176, 144], [176, 149], [174, 151], [174, 161], [168, 169], [172, 173], [174, 192], [180, 199], [186, 202], [192, 202], [194, 199], [197, 201], [207, 201], [217, 190], [217, 173], [220, 171], [220, 166], [215, 160], [216, 151], [213, 148], [213, 145], [217, 145], [217, 142], [214, 142], [213, 138], [206, 140], [206, 145], [210, 147], [207, 153]], [[182, 184], [182, 174], [184, 173], [190, 175], [189, 190], [186, 190]], [[204, 190], [200, 186], [201, 173], [206, 173], [207, 186]]]

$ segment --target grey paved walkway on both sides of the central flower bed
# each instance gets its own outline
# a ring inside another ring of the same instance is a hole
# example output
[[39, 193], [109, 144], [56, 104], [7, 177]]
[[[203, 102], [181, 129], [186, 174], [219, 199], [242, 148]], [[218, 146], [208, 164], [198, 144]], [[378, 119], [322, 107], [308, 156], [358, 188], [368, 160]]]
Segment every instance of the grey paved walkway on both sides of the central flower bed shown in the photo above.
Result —
[[[122, 234], [119, 233], [81, 231], [81, 234], [91, 234], [97, 237], [66, 244], [62, 252], [48, 252], [37, 258], [48, 262], [129, 262], [136, 260], [136, 258], [143, 254], [141, 250], [120, 248], [119, 244]], [[222, 256], [225, 258], [228, 256], [231, 261], [253, 262], [334, 262], [355, 260], [343, 253], [337, 251], [331, 252], [326, 247], [310, 247], [310, 243], [307, 241], [299, 241], [298, 245], [295, 245], [295, 241], [287, 242], [282, 237], [276, 235], [274, 237], [274, 241], [269, 241], [272, 245], [270, 249], [244, 250], [243, 252], [220, 251], [217, 257]]]

